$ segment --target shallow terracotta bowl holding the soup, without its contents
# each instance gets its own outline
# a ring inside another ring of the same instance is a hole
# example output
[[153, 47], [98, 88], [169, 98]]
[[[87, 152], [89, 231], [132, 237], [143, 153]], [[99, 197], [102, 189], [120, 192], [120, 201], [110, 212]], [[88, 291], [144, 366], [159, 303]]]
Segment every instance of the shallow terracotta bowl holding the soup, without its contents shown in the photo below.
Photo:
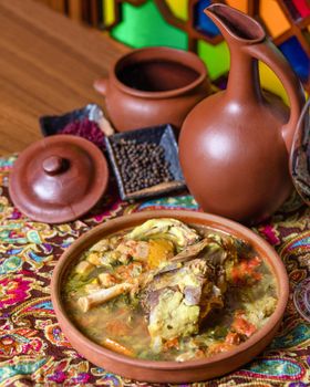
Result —
[[[187, 223], [202, 224], [230, 233], [249, 242], [262, 257], [275, 274], [278, 283], [278, 305], [267, 324], [247, 342], [236, 349], [218, 354], [209, 358], [177, 362], [142, 360], [105, 349], [85, 337], [69, 320], [61, 300], [62, 283], [66, 270], [80, 254], [101, 238], [131, 228], [151, 218], [172, 217]], [[60, 326], [72, 346], [86, 359], [112, 373], [144, 381], [188, 383], [210, 379], [227, 374], [246, 364], [258, 355], [275, 336], [289, 296], [289, 282], [286, 268], [276, 251], [260, 237], [234, 221], [194, 211], [152, 211], [140, 212], [97, 226], [79, 238], [61, 257], [52, 276], [52, 302]]]

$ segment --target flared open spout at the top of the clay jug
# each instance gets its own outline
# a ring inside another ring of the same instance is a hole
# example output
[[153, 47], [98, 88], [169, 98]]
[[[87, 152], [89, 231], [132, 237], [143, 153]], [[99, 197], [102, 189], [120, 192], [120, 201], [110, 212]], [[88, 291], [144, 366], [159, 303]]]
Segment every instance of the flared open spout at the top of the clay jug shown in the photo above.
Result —
[[234, 43], [255, 44], [266, 38], [262, 27], [256, 20], [234, 8], [211, 4], [205, 9], [205, 13], [218, 27], [230, 50]]

